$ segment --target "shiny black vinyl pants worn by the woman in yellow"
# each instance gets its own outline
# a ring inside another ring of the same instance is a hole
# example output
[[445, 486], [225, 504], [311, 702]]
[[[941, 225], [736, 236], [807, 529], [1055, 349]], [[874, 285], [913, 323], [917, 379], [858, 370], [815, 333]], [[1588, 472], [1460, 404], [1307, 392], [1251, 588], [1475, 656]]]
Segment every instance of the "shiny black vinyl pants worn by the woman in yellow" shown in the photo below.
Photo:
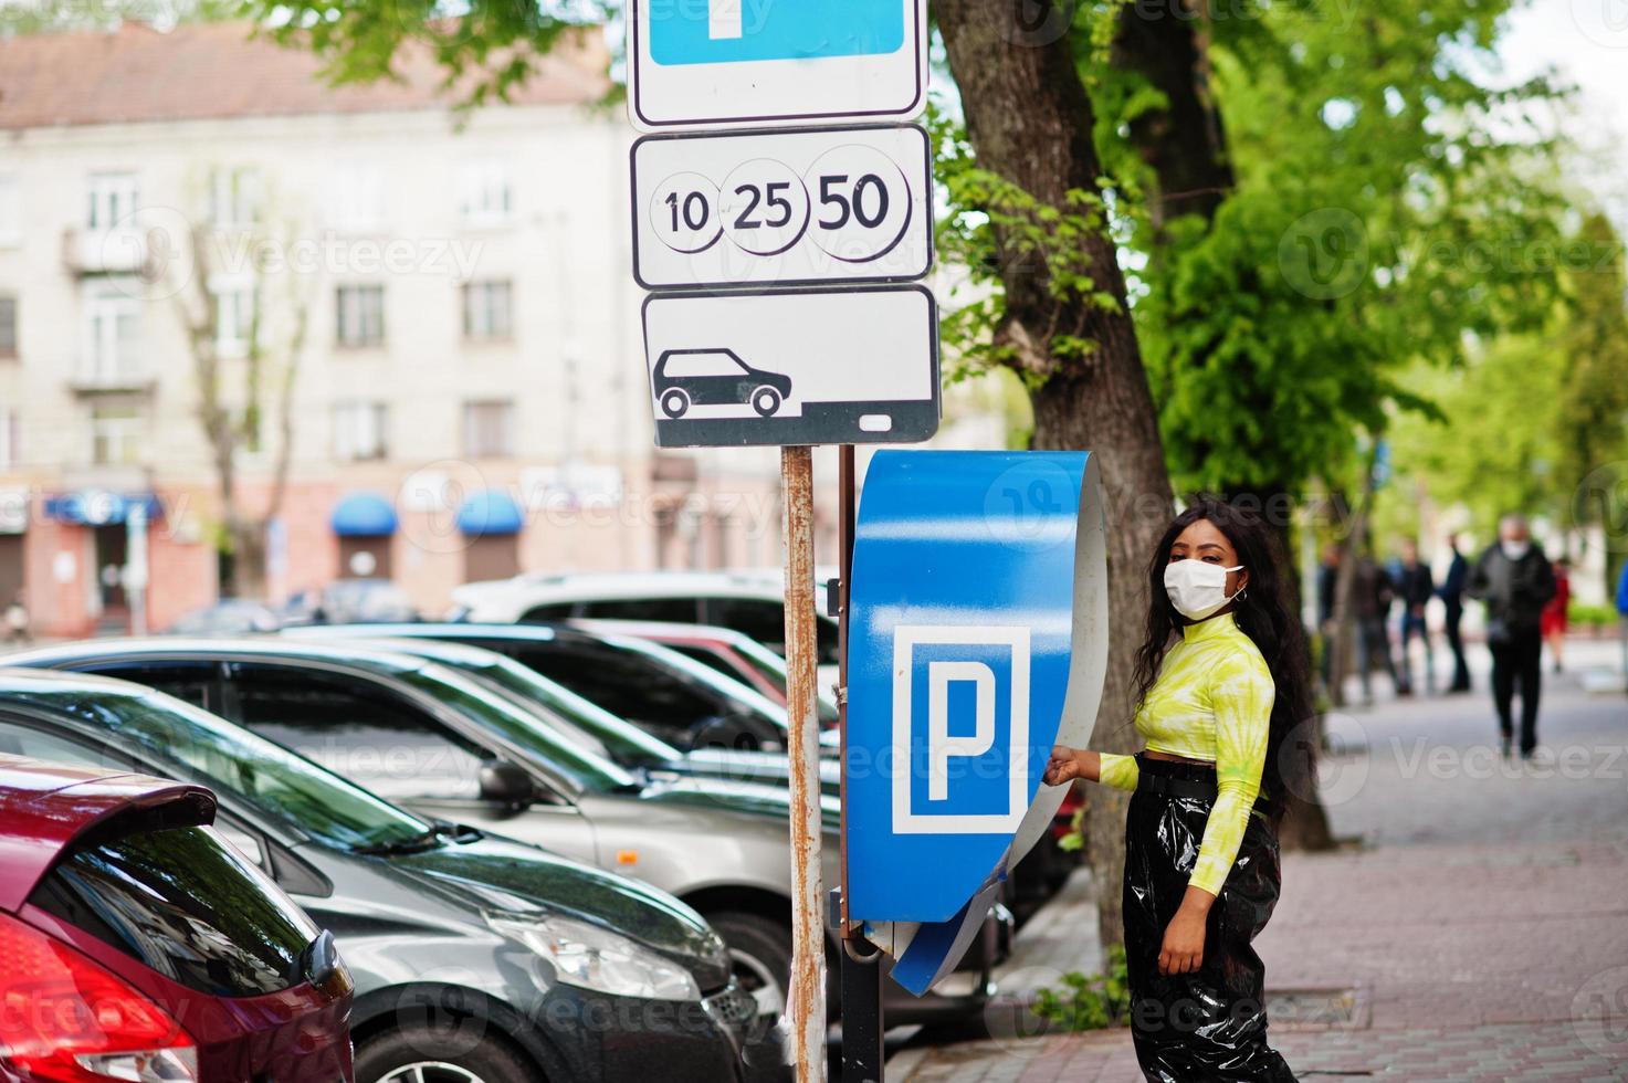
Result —
[[[1214, 769], [1138, 757], [1141, 775], [1214, 783]], [[1250, 941], [1278, 902], [1278, 835], [1250, 814], [1237, 860], [1210, 907], [1205, 961], [1159, 974], [1164, 927], [1187, 894], [1213, 801], [1138, 788], [1125, 821], [1125, 954], [1131, 1037], [1153, 1083], [1294, 1083], [1267, 1044], [1265, 966]]]

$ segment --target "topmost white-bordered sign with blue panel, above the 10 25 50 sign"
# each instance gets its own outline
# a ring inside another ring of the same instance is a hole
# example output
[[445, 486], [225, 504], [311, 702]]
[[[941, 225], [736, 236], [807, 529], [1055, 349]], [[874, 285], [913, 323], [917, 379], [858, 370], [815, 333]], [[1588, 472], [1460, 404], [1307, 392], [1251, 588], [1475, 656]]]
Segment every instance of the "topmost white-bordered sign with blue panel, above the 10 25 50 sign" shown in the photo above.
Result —
[[635, 0], [627, 111], [646, 132], [908, 121], [926, 0]]

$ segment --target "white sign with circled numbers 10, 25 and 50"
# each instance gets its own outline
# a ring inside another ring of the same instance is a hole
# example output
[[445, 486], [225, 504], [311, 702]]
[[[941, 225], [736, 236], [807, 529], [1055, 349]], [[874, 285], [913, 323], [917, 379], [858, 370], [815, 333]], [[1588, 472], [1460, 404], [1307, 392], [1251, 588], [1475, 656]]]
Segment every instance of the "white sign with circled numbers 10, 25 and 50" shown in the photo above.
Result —
[[933, 267], [933, 151], [910, 124], [646, 135], [632, 168], [646, 290], [912, 282]]

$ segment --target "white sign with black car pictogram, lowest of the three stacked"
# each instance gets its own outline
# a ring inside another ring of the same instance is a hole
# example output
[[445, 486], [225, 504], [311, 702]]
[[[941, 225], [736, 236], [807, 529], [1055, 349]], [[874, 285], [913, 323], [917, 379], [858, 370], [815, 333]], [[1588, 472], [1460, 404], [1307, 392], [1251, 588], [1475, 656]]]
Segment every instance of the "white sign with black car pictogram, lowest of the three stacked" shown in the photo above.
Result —
[[917, 443], [938, 432], [918, 285], [645, 298], [656, 446]]

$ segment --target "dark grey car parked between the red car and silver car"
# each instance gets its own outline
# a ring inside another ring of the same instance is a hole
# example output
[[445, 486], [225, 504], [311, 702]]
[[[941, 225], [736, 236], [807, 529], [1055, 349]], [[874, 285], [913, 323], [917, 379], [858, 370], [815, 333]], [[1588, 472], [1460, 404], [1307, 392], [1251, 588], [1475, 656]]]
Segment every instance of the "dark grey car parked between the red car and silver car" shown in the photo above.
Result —
[[169, 695], [0, 669], [0, 752], [199, 782], [217, 827], [337, 938], [358, 1083], [715, 1083], [752, 1002], [687, 905], [399, 809]]

